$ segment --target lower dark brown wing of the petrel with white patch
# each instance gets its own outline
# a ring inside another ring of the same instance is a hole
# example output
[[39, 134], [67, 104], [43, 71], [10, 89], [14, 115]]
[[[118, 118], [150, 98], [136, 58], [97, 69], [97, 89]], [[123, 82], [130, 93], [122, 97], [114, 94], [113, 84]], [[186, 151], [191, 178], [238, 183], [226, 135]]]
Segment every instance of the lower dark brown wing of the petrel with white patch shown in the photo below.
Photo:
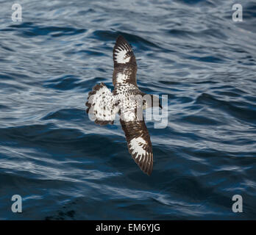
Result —
[[141, 170], [150, 176], [153, 170], [153, 152], [149, 131], [146, 129], [144, 120], [128, 122], [120, 120], [120, 123], [127, 138], [129, 153]]

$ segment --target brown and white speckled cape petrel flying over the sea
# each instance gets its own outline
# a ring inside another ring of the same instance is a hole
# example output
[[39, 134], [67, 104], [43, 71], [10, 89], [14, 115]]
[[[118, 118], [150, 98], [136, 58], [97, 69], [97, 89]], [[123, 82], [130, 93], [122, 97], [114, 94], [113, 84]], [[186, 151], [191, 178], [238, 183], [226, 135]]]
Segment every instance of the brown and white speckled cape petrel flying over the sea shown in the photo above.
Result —
[[[87, 113], [92, 114], [95, 123], [113, 124], [115, 115], [120, 115], [120, 123], [127, 139], [129, 153], [144, 173], [150, 175], [153, 169], [152, 143], [149, 131], [138, 109], [160, 105], [159, 98], [149, 95], [149, 99], [140, 97], [146, 93], [139, 90], [136, 82], [137, 64], [132, 48], [127, 40], [118, 36], [113, 48], [113, 84], [111, 93], [106, 85], [96, 84], [88, 95]], [[134, 97], [138, 98], [134, 98]]]

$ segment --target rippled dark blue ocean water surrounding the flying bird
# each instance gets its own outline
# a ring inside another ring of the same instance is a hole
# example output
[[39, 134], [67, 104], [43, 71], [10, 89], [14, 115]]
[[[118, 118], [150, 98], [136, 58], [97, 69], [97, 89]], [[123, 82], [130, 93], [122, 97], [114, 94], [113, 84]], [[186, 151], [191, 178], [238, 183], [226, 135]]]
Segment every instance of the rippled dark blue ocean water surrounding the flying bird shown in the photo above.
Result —
[[[256, 219], [256, 1], [17, 2], [21, 22], [0, 1], [0, 220]], [[118, 35], [141, 90], [168, 95], [166, 128], [146, 123], [152, 176], [85, 112], [113, 90]]]

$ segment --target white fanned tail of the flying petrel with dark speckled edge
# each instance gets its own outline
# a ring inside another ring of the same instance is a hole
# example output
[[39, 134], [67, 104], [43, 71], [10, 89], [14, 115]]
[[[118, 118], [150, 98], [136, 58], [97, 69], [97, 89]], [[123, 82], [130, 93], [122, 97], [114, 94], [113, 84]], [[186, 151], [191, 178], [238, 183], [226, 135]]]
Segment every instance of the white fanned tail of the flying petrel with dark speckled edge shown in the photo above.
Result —
[[96, 124], [113, 124], [115, 114], [118, 112], [118, 104], [115, 102], [115, 96], [104, 83], [96, 84], [93, 90], [88, 94], [88, 106], [86, 112], [95, 120]]

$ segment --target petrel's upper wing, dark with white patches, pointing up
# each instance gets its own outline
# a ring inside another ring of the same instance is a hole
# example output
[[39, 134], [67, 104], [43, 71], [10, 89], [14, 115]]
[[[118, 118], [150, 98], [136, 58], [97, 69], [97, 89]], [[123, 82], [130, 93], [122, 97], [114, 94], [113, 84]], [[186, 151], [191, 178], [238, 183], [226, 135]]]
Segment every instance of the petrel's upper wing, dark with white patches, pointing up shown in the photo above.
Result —
[[118, 36], [113, 48], [113, 84], [134, 84], [136, 82], [137, 64], [132, 47], [122, 36]]

